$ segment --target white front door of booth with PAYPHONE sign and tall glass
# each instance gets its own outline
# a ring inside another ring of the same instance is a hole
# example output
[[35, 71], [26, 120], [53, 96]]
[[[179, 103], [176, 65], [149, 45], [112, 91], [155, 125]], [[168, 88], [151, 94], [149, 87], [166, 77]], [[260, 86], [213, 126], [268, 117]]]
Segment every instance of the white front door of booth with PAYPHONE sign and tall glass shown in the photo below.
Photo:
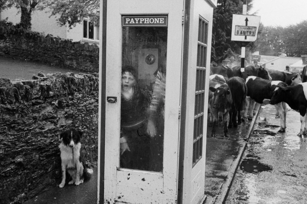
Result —
[[107, 18], [104, 203], [176, 203], [182, 4], [135, 15], [121, 2], [108, 2], [124, 15]]

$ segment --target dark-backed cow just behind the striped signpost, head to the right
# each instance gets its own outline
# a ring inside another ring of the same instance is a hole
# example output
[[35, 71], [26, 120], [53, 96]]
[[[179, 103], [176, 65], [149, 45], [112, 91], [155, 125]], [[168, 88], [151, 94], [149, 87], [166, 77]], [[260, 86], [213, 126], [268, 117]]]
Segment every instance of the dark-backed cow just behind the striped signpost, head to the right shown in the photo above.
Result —
[[268, 79], [271, 80], [272, 77], [268, 73], [266, 68], [263, 68], [260, 66], [259, 68], [255, 68], [253, 65], [248, 65], [244, 68], [244, 72], [247, 74], [247, 76], [242, 76], [241, 72], [241, 66], [237, 65], [234, 66], [233, 68], [233, 76], [234, 77], [242, 77], [244, 80], [246, 80], [247, 76], [255, 76], [255, 77], [260, 77], [263, 79]]

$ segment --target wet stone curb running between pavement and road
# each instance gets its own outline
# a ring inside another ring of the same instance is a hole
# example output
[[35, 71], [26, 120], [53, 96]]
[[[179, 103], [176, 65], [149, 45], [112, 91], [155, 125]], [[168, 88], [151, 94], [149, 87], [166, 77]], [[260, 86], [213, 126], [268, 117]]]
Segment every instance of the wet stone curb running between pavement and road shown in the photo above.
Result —
[[220, 189], [220, 193], [217, 196], [216, 200], [214, 201], [214, 203], [216, 204], [225, 204], [226, 200], [227, 200], [227, 196], [230, 190], [230, 187], [232, 185], [233, 179], [235, 178], [235, 174], [238, 170], [239, 164], [241, 162], [241, 159], [243, 157], [245, 148], [247, 147], [247, 143], [249, 140], [249, 137], [251, 135], [251, 131], [254, 128], [255, 122], [257, 120], [258, 114], [259, 114], [259, 110], [261, 108], [261, 104], [256, 104], [258, 105], [258, 107], [256, 108], [256, 115], [253, 117], [253, 120], [251, 121], [251, 125], [247, 131], [247, 135], [245, 137], [245, 141], [243, 141], [243, 145], [239, 147], [239, 154], [238, 156], [234, 159], [234, 161], [231, 163], [231, 166], [228, 170], [228, 174], [227, 174], [227, 179], [225, 181], [225, 183], [222, 185], [221, 189]]

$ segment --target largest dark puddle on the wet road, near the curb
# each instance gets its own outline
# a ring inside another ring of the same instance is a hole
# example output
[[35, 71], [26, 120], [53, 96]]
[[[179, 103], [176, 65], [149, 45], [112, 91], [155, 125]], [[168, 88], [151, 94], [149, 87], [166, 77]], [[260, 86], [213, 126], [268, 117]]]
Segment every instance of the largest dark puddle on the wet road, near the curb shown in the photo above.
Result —
[[251, 174], [258, 174], [262, 171], [272, 171], [272, 167], [260, 163], [257, 158], [247, 158], [243, 159], [240, 165], [240, 169], [243, 172], [251, 173]]

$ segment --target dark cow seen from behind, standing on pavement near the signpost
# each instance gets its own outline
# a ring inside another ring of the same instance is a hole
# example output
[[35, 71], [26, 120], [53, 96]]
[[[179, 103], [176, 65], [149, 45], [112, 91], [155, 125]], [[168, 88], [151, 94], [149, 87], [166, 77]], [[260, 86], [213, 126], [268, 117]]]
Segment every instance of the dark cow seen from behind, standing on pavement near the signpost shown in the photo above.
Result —
[[231, 96], [232, 96], [232, 104], [231, 104], [231, 111], [229, 111], [229, 124], [228, 128], [233, 126], [236, 128], [237, 120], [236, 116], [238, 113], [238, 123], [241, 123], [241, 108], [243, 106], [243, 102], [247, 95], [247, 86], [245, 84], [244, 79], [240, 77], [232, 77], [227, 81], [229, 86]]

